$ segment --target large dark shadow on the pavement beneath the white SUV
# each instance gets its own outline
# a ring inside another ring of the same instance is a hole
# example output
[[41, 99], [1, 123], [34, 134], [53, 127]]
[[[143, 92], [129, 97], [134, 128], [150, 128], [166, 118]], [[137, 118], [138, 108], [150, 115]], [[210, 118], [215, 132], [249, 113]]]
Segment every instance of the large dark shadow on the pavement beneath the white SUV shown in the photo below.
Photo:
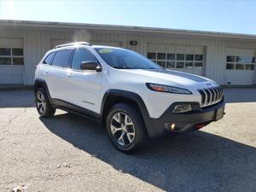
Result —
[[166, 191], [255, 191], [256, 149], [204, 131], [153, 140], [136, 154], [113, 148], [89, 119], [61, 113], [40, 118], [56, 136], [118, 171]]

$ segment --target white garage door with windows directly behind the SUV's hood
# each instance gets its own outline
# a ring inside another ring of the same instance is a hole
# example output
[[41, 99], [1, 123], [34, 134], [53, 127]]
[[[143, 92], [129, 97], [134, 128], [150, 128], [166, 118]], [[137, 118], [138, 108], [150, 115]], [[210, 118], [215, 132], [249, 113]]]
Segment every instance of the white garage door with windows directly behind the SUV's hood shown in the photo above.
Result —
[[147, 55], [161, 67], [204, 75], [204, 47], [148, 44]]

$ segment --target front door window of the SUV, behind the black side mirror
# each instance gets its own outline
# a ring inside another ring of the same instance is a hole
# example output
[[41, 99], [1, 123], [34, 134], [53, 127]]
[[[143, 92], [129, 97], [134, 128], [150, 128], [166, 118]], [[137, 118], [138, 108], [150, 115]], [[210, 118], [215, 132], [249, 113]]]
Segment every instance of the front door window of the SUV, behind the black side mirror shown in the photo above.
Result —
[[73, 53], [72, 68], [80, 70], [82, 61], [96, 61], [96, 57], [92, 55], [87, 49], [75, 49]]

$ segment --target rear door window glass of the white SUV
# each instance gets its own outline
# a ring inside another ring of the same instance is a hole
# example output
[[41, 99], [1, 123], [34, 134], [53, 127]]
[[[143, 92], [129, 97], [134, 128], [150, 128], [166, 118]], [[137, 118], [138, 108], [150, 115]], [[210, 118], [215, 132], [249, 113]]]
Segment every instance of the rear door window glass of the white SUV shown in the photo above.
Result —
[[69, 66], [69, 59], [70, 59], [71, 53], [72, 53], [72, 49], [65, 49], [65, 50], [58, 51], [55, 55], [52, 65], [57, 67], [67, 68]]

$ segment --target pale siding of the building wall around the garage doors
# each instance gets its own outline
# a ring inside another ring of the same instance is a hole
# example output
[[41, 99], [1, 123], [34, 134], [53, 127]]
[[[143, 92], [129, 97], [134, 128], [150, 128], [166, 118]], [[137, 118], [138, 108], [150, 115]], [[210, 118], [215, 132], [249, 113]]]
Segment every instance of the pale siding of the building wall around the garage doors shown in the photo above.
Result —
[[[44, 53], [51, 49], [52, 39], [71, 39], [73, 41], [89, 42], [118, 42], [122, 47], [133, 49], [146, 55], [148, 44], [173, 44], [181, 46], [204, 47], [206, 52], [205, 76], [225, 84], [225, 49], [256, 49], [256, 42], [241, 41], [239, 39], [218, 39], [197, 36], [183, 36], [171, 34], [156, 34], [146, 32], [110, 32], [80, 29], [37, 28], [37, 27], [9, 27], [0, 26], [0, 38], [24, 39], [24, 84], [33, 84], [34, 69]], [[130, 41], [136, 40], [137, 46], [131, 46]], [[254, 75], [254, 83], [256, 84]]]

